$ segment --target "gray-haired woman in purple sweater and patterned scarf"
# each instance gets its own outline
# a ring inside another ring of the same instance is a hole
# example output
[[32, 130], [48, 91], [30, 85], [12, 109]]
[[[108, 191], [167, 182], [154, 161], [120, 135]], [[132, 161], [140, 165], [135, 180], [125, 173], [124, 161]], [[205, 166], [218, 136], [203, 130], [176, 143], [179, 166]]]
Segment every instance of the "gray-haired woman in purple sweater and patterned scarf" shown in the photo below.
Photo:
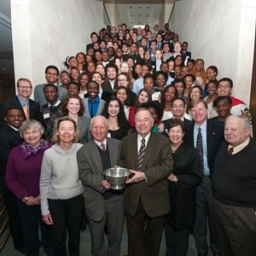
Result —
[[40, 224], [44, 252], [55, 255], [52, 233], [42, 221], [39, 178], [44, 151], [52, 143], [42, 139], [44, 127], [36, 120], [25, 120], [20, 126], [24, 143], [13, 148], [6, 169], [6, 184], [15, 195], [24, 239], [26, 255], [39, 255], [38, 224]]

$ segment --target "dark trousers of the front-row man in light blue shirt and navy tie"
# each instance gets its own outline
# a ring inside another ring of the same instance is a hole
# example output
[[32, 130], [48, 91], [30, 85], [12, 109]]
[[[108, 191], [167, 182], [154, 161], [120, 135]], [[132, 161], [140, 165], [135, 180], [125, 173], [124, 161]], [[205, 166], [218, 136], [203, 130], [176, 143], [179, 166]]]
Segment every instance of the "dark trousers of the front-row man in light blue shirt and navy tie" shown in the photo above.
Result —
[[218, 239], [212, 214], [212, 183], [210, 177], [203, 177], [196, 187], [195, 246], [199, 253], [208, 253], [207, 218], [210, 230], [212, 253], [218, 253]]

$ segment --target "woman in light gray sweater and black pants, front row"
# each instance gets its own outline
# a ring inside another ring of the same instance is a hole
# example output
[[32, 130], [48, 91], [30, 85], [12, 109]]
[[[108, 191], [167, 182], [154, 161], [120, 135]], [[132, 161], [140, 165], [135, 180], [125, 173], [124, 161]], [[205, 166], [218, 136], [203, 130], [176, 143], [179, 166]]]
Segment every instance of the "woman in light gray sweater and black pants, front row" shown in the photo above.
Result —
[[83, 145], [76, 143], [77, 139], [75, 121], [62, 117], [57, 122], [55, 145], [45, 151], [42, 162], [41, 211], [44, 223], [52, 230], [55, 255], [79, 255], [84, 189], [77, 162]]

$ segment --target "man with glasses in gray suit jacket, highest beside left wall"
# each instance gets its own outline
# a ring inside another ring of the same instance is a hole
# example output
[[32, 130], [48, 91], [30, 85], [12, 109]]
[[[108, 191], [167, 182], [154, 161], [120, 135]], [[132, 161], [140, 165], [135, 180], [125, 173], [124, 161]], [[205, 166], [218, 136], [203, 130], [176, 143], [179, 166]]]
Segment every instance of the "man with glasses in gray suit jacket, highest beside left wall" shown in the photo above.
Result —
[[[36, 102], [40, 104], [41, 107], [47, 103], [47, 100], [45, 99], [45, 96], [44, 96], [44, 85], [55, 84], [57, 86], [58, 84], [58, 79], [59, 79], [58, 67], [55, 67], [53, 65], [46, 67], [45, 79], [47, 83], [36, 85], [34, 90], [34, 99]], [[59, 91], [59, 100], [62, 102], [64, 98], [67, 96], [67, 90], [59, 86], [58, 91]]]

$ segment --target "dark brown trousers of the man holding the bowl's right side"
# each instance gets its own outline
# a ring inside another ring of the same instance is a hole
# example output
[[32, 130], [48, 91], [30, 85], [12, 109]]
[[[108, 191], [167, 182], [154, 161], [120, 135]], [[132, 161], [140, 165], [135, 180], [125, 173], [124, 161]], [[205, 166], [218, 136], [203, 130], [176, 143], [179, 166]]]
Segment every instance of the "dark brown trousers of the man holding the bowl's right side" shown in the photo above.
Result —
[[158, 256], [166, 215], [150, 218], [141, 199], [137, 212], [131, 216], [126, 212], [129, 256]]

